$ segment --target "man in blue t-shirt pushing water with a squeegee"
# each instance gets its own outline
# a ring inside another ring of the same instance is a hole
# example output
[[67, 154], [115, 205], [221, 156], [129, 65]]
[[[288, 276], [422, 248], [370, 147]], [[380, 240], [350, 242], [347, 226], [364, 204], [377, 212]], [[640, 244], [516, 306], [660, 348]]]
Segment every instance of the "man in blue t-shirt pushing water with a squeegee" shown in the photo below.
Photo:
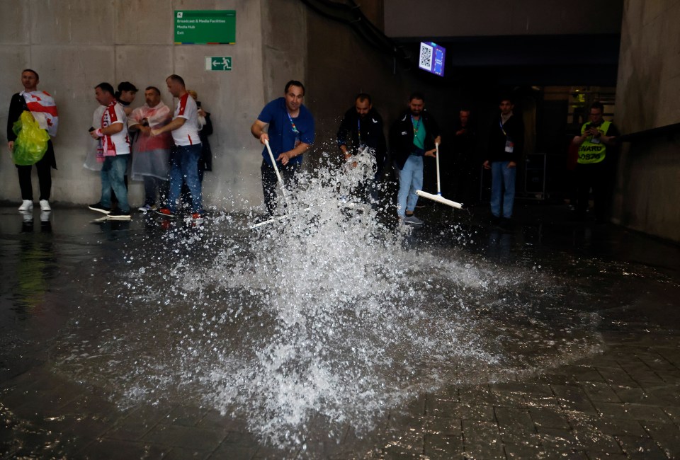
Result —
[[[295, 186], [295, 176], [302, 165], [302, 154], [314, 142], [314, 117], [302, 105], [305, 86], [297, 80], [285, 84], [284, 97], [264, 106], [250, 128], [262, 144], [269, 142], [276, 166], [287, 188]], [[266, 131], [265, 131], [266, 128]], [[266, 147], [262, 150], [262, 191], [268, 214], [276, 208], [277, 178]]]

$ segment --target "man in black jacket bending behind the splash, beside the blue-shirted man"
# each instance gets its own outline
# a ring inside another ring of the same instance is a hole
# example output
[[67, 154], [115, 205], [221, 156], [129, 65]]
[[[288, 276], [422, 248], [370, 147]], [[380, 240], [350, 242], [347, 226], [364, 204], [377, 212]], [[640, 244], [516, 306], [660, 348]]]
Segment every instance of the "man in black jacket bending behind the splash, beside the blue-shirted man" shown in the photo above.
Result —
[[[375, 171], [373, 180], [362, 184], [361, 188], [368, 188], [371, 201], [377, 203], [387, 142], [385, 142], [385, 132], [382, 130], [382, 117], [378, 110], [373, 108], [368, 94], [359, 93], [354, 101], [354, 107], [345, 113], [338, 130], [337, 142], [345, 161], [350, 160], [353, 154], [361, 154], [368, 147], [368, 152], [375, 158]], [[348, 142], [350, 142], [349, 146]], [[353, 163], [353, 166], [356, 166], [356, 163]]]

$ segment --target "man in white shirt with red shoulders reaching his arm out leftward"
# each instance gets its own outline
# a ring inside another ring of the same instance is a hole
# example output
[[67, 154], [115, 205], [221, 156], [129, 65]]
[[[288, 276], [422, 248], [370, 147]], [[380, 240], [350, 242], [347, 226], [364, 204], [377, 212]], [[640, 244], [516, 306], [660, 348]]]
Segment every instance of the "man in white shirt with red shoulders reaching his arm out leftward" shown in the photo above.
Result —
[[168, 91], [179, 102], [175, 108], [174, 117], [164, 127], [152, 130], [152, 136], [164, 132], [172, 132], [175, 146], [170, 151], [170, 191], [168, 206], [157, 210], [164, 217], [175, 217], [182, 181], [186, 183], [191, 193], [191, 218], [195, 221], [203, 219], [201, 207], [201, 188], [198, 178], [198, 159], [200, 159], [201, 145], [198, 131], [198, 105], [186, 91], [184, 80], [179, 75], [171, 75], [166, 79]]

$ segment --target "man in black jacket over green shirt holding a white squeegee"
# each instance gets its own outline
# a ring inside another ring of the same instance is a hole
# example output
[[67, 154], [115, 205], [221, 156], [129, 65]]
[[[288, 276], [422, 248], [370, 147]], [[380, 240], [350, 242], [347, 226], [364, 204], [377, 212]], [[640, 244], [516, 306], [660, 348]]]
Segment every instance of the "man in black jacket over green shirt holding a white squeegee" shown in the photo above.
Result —
[[423, 157], [436, 157], [435, 144], [440, 143], [437, 122], [425, 110], [425, 96], [412, 93], [409, 108], [390, 130], [392, 161], [399, 170], [397, 215], [404, 224], [423, 224], [413, 215], [418, 202], [416, 190], [423, 188]]

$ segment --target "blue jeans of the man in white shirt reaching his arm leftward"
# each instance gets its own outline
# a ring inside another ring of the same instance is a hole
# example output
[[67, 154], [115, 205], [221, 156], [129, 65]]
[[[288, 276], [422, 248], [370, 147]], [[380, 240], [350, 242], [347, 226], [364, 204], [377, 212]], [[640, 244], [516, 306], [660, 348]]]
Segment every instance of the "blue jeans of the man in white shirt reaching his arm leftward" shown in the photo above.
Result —
[[186, 183], [191, 193], [191, 212], [203, 212], [200, 205], [202, 195], [200, 180], [198, 179], [200, 149], [200, 144], [193, 144], [174, 146], [170, 150], [170, 192], [168, 196], [170, 212], [177, 212], [182, 181]]

